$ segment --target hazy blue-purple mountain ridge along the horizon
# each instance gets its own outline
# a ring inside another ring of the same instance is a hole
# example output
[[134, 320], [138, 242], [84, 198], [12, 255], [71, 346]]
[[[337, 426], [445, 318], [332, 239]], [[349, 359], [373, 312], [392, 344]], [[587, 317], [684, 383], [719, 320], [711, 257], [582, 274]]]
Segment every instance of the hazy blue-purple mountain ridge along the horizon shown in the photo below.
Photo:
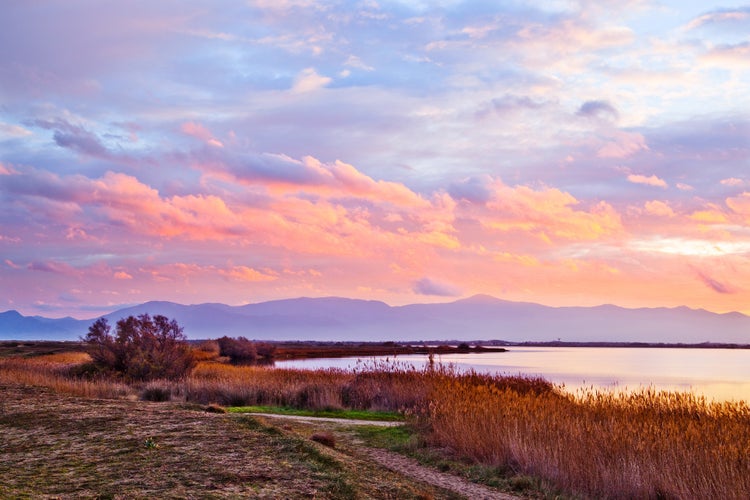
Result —
[[[296, 298], [243, 306], [153, 301], [104, 315], [111, 324], [149, 313], [174, 318], [189, 338], [258, 340], [506, 340], [750, 344], [750, 317], [702, 309], [614, 305], [549, 307], [489, 295], [439, 304], [389, 306], [374, 300]], [[0, 340], [76, 340], [90, 320], [0, 313]]]

